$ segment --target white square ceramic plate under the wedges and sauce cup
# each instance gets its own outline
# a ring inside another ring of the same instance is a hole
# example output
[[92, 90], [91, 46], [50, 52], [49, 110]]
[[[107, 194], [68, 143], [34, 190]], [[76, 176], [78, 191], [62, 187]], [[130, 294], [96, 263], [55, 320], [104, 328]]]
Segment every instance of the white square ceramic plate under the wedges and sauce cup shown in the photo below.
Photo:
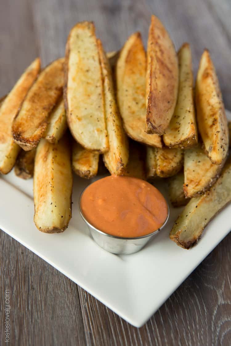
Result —
[[[228, 113], [228, 112], [227, 112]], [[227, 114], [230, 117], [230, 112]], [[181, 211], [170, 206], [167, 226], [140, 252], [113, 255], [98, 247], [78, 211], [89, 181], [74, 177], [72, 219], [60, 234], [44, 234], [34, 225], [33, 181], [14, 171], [0, 177], [0, 228], [68, 276], [136, 327], [141, 327], [231, 229], [231, 204], [205, 228], [202, 239], [184, 250], [169, 239]], [[155, 184], [167, 197], [163, 183]], [[167, 198], [168, 199], [168, 198]]]

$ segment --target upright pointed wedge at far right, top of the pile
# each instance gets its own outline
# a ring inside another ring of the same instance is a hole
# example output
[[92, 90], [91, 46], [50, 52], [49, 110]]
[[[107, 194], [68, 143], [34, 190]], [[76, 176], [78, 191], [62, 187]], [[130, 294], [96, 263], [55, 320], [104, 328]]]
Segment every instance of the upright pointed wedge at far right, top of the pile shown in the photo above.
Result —
[[197, 72], [196, 110], [205, 152], [212, 163], [220, 165], [228, 154], [229, 131], [219, 81], [207, 50]]

